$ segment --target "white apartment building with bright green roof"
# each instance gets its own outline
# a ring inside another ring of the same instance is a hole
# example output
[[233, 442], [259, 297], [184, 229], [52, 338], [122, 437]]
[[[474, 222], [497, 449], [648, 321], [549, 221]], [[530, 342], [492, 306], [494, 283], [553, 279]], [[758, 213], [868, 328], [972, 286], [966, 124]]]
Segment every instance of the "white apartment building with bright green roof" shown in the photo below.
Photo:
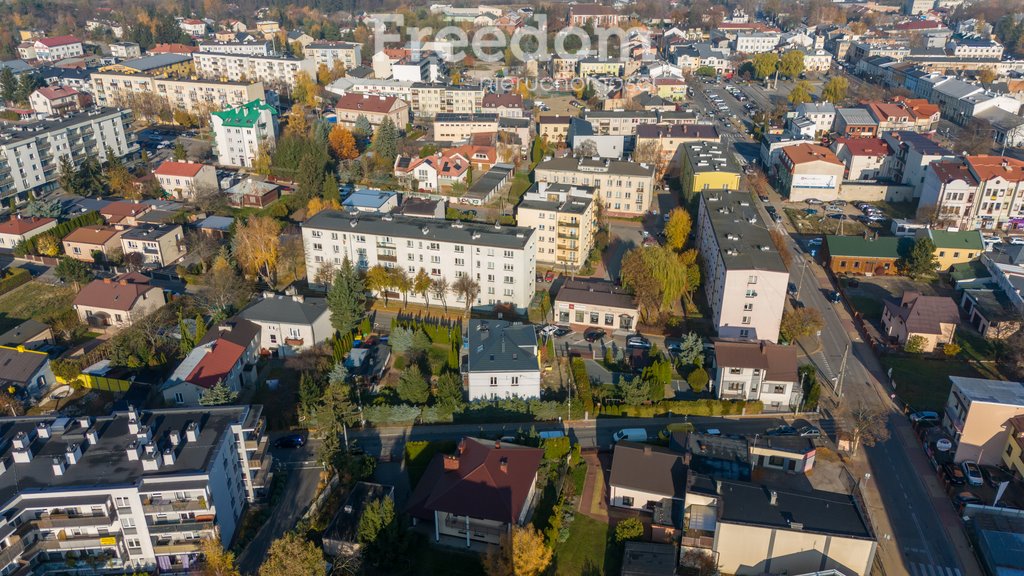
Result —
[[278, 111], [260, 100], [214, 112], [213, 153], [224, 166], [252, 168], [260, 145], [273, 150], [278, 141]]

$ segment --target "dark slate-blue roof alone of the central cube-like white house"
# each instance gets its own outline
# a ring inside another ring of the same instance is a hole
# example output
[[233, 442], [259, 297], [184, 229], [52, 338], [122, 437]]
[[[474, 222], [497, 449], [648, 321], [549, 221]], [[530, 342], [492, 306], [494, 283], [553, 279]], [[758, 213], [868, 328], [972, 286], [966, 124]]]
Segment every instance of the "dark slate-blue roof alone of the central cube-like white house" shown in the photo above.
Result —
[[470, 372], [537, 372], [537, 332], [526, 324], [469, 321]]

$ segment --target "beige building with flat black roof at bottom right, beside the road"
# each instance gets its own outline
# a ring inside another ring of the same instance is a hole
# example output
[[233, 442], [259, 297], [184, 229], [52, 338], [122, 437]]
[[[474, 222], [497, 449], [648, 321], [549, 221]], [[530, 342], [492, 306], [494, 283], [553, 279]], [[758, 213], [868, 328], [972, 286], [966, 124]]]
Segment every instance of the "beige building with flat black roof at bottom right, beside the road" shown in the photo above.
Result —
[[723, 574], [871, 573], [878, 543], [854, 498], [689, 475], [682, 553], [713, 557]]

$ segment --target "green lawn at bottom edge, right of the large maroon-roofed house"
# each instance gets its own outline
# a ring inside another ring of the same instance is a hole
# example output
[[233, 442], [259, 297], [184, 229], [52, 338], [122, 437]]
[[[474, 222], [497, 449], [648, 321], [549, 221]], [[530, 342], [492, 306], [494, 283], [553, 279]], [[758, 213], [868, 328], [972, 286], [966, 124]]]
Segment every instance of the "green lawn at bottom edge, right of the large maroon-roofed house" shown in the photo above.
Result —
[[623, 550], [608, 525], [578, 513], [569, 539], [555, 547], [555, 574], [618, 574]]

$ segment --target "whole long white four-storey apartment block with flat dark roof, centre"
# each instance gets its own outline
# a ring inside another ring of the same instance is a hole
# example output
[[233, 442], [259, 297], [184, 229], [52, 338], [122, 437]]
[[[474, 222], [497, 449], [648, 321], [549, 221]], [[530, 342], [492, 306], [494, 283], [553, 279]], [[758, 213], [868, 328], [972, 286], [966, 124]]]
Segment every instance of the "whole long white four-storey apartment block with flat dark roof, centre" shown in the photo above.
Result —
[[[450, 286], [468, 275], [480, 287], [475, 305], [525, 308], [536, 291], [537, 233], [527, 228], [325, 210], [302, 223], [302, 245], [310, 283], [322, 268], [340, 266], [348, 258], [359, 270], [400, 268], [415, 276], [423, 269]], [[388, 292], [402, 297], [394, 289]], [[408, 298], [424, 301], [417, 294]], [[464, 306], [461, 298], [446, 295], [449, 305]], [[431, 301], [437, 298], [431, 295]]]

